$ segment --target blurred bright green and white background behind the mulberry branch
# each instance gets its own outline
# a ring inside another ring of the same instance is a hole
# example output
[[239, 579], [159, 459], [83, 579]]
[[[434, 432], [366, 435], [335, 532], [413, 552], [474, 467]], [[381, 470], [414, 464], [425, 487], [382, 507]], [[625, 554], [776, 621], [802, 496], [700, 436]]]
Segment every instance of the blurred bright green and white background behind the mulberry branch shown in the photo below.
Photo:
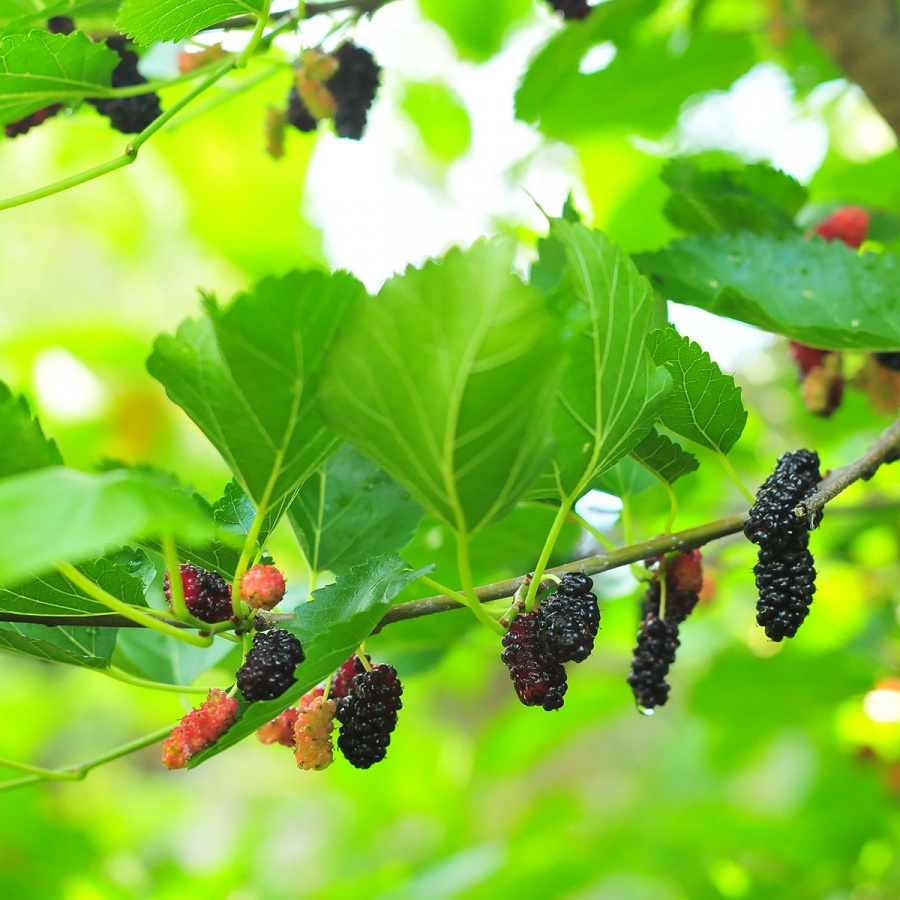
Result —
[[[154, 335], [197, 313], [200, 288], [224, 300], [263, 275], [340, 266], [374, 289], [408, 263], [497, 232], [521, 238], [524, 266], [542, 228], [534, 201], [556, 213], [570, 191], [627, 250], [653, 248], [675, 235], [658, 175], [678, 152], [786, 169], [809, 185], [809, 222], [841, 202], [900, 212], [891, 133], [808, 39], [778, 42], [777, 3], [697, 4], [749, 36], [746, 58], [728, 61], [744, 69], [730, 87], [688, 100], [659, 72], [637, 84], [626, 72], [621, 89], [646, 95], [643, 106], [626, 115], [602, 95], [576, 115], [563, 95], [540, 127], [516, 121], [513, 95], [561, 24], [529, 0], [484, 6], [399, 0], [359, 24], [356, 40], [384, 73], [358, 144], [292, 133], [282, 159], [267, 155], [265, 110], [283, 104], [290, 74], [262, 66], [201, 100], [136, 165], [2, 214], [0, 378], [29, 398], [70, 465], [151, 462], [219, 495], [224, 465], [144, 368]], [[648, 27], [677, 36], [690, 6], [660, 4]], [[310, 23], [309, 42], [316, 28], [326, 30]], [[582, 74], [616, 54], [605, 43], [589, 50]], [[144, 64], [165, 73], [176, 53], [157, 48]], [[59, 117], [0, 143], [3, 193], [121, 148], [92, 111]], [[853, 390], [831, 419], [816, 419], [782, 339], [693, 310], [672, 315], [744, 390], [750, 419], [732, 459], [751, 487], [800, 446], [841, 465], [890, 420]], [[403, 623], [368, 645], [405, 684], [384, 763], [305, 773], [288, 750], [250, 739], [191, 772], [168, 772], [150, 748], [81, 783], [0, 793], [0, 895], [900, 896], [898, 476], [886, 468], [829, 506], [812, 538], [813, 614], [784, 646], [754, 626], [752, 548], [710, 545], [672, 699], [652, 718], [635, 712], [625, 683], [639, 602], [627, 570], [597, 579], [597, 651], [571, 671], [558, 714], [518, 705], [496, 638], [465, 611]], [[676, 489], [678, 528], [745, 507], [712, 458]], [[638, 498], [634, 537], [659, 533], [667, 512], [662, 489]], [[481, 535], [479, 583], [531, 568], [549, 522], [524, 508]], [[621, 541], [615, 516], [607, 522]], [[405, 556], [436, 562], [452, 583], [449, 545], [426, 520]], [[592, 549], [572, 526], [555, 562]], [[287, 533], [273, 553], [289, 599], [303, 599]], [[198, 683], [226, 685], [234, 667], [226, 658]], [[0, 656], [0, 684], [0, 755], [44, 766], [95, 756], [187, 708], [12, 655]]]

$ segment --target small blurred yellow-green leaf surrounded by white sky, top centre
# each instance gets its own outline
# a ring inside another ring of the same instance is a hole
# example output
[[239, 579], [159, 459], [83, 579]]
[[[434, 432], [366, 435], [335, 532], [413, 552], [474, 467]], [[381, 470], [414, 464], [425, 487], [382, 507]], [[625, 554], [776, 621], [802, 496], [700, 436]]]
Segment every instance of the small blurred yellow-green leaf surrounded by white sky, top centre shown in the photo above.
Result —
[[400, 108], [419, 132], [429, 154], [444, 165], [463, 156], [472, 142], [472, 123], [458, 95], [439, 82], [407, 81]]

